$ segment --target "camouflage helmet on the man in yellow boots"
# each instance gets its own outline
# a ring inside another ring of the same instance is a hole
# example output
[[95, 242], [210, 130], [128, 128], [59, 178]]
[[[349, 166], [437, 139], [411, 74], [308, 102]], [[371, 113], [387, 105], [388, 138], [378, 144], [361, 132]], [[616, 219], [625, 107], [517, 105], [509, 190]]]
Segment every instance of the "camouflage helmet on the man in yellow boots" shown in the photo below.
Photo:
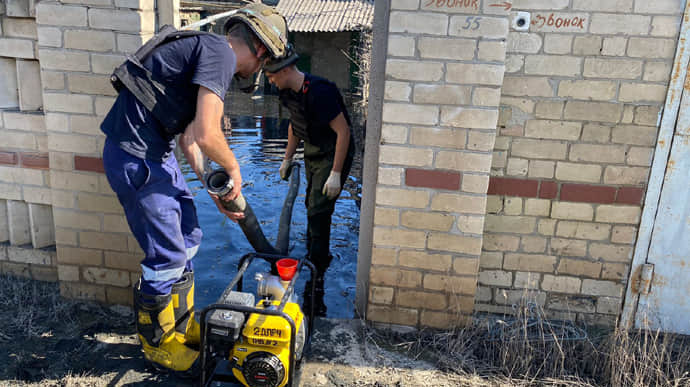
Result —
[[225, 22], [224, 32], [227, 34], [237, 23], [244, 23], [249, 27], [266, 47], [270, 57], [285, 56], [288, 43], [287, 22], [275, 8], [261, 3], [253, 3], [240, 8]]

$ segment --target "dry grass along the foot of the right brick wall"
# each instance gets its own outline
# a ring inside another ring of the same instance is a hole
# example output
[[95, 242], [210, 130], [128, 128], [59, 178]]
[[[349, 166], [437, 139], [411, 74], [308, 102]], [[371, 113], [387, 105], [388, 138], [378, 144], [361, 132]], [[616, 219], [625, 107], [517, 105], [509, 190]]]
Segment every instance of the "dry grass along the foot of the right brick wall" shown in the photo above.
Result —
[[377, 330], [369, 338], [381, 346], [398, 342], [398, 351], [472, 378], [471, 386], [690, 386], [686, 336], [585, 330], [527, 314], [475, 316], [471, 326], [454, 331]]

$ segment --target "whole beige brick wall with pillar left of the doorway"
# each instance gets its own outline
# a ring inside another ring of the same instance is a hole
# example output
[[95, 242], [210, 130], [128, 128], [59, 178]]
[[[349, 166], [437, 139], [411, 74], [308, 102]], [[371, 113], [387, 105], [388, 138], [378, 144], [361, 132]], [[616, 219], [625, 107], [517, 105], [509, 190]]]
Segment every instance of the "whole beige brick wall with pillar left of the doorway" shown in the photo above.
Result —
[[102, 173], [98, 126], [109, 74], [153, 33], [153, 2], [14, 5], [0, 9], [0, 271], [129, 303], [140, 251]]

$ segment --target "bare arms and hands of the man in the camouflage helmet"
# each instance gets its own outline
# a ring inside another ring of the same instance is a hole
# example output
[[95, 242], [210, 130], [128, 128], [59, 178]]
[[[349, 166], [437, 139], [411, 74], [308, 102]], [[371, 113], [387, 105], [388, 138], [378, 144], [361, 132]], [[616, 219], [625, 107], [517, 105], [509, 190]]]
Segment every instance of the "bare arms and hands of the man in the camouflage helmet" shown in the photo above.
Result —
[[[223, 117], [223, 101], [211, 90], [200, 86], [197, 96], [197, 108], [194, 120], [187, 126], [180, 136], [180, 148], [190, 166], [199, 177], [204, 177], [203, 154], [218, 163], [230, 175], [234, 186], [223, 200], [234, 200], [242, 190], [242, 175], [235, 155], [228, 147], [225, 136], [220, 127]], [[215, 195], [211, 195], [218, 209], [232, 220], [242, 219], [241, 212], [229, 212], [219, 202]]]

